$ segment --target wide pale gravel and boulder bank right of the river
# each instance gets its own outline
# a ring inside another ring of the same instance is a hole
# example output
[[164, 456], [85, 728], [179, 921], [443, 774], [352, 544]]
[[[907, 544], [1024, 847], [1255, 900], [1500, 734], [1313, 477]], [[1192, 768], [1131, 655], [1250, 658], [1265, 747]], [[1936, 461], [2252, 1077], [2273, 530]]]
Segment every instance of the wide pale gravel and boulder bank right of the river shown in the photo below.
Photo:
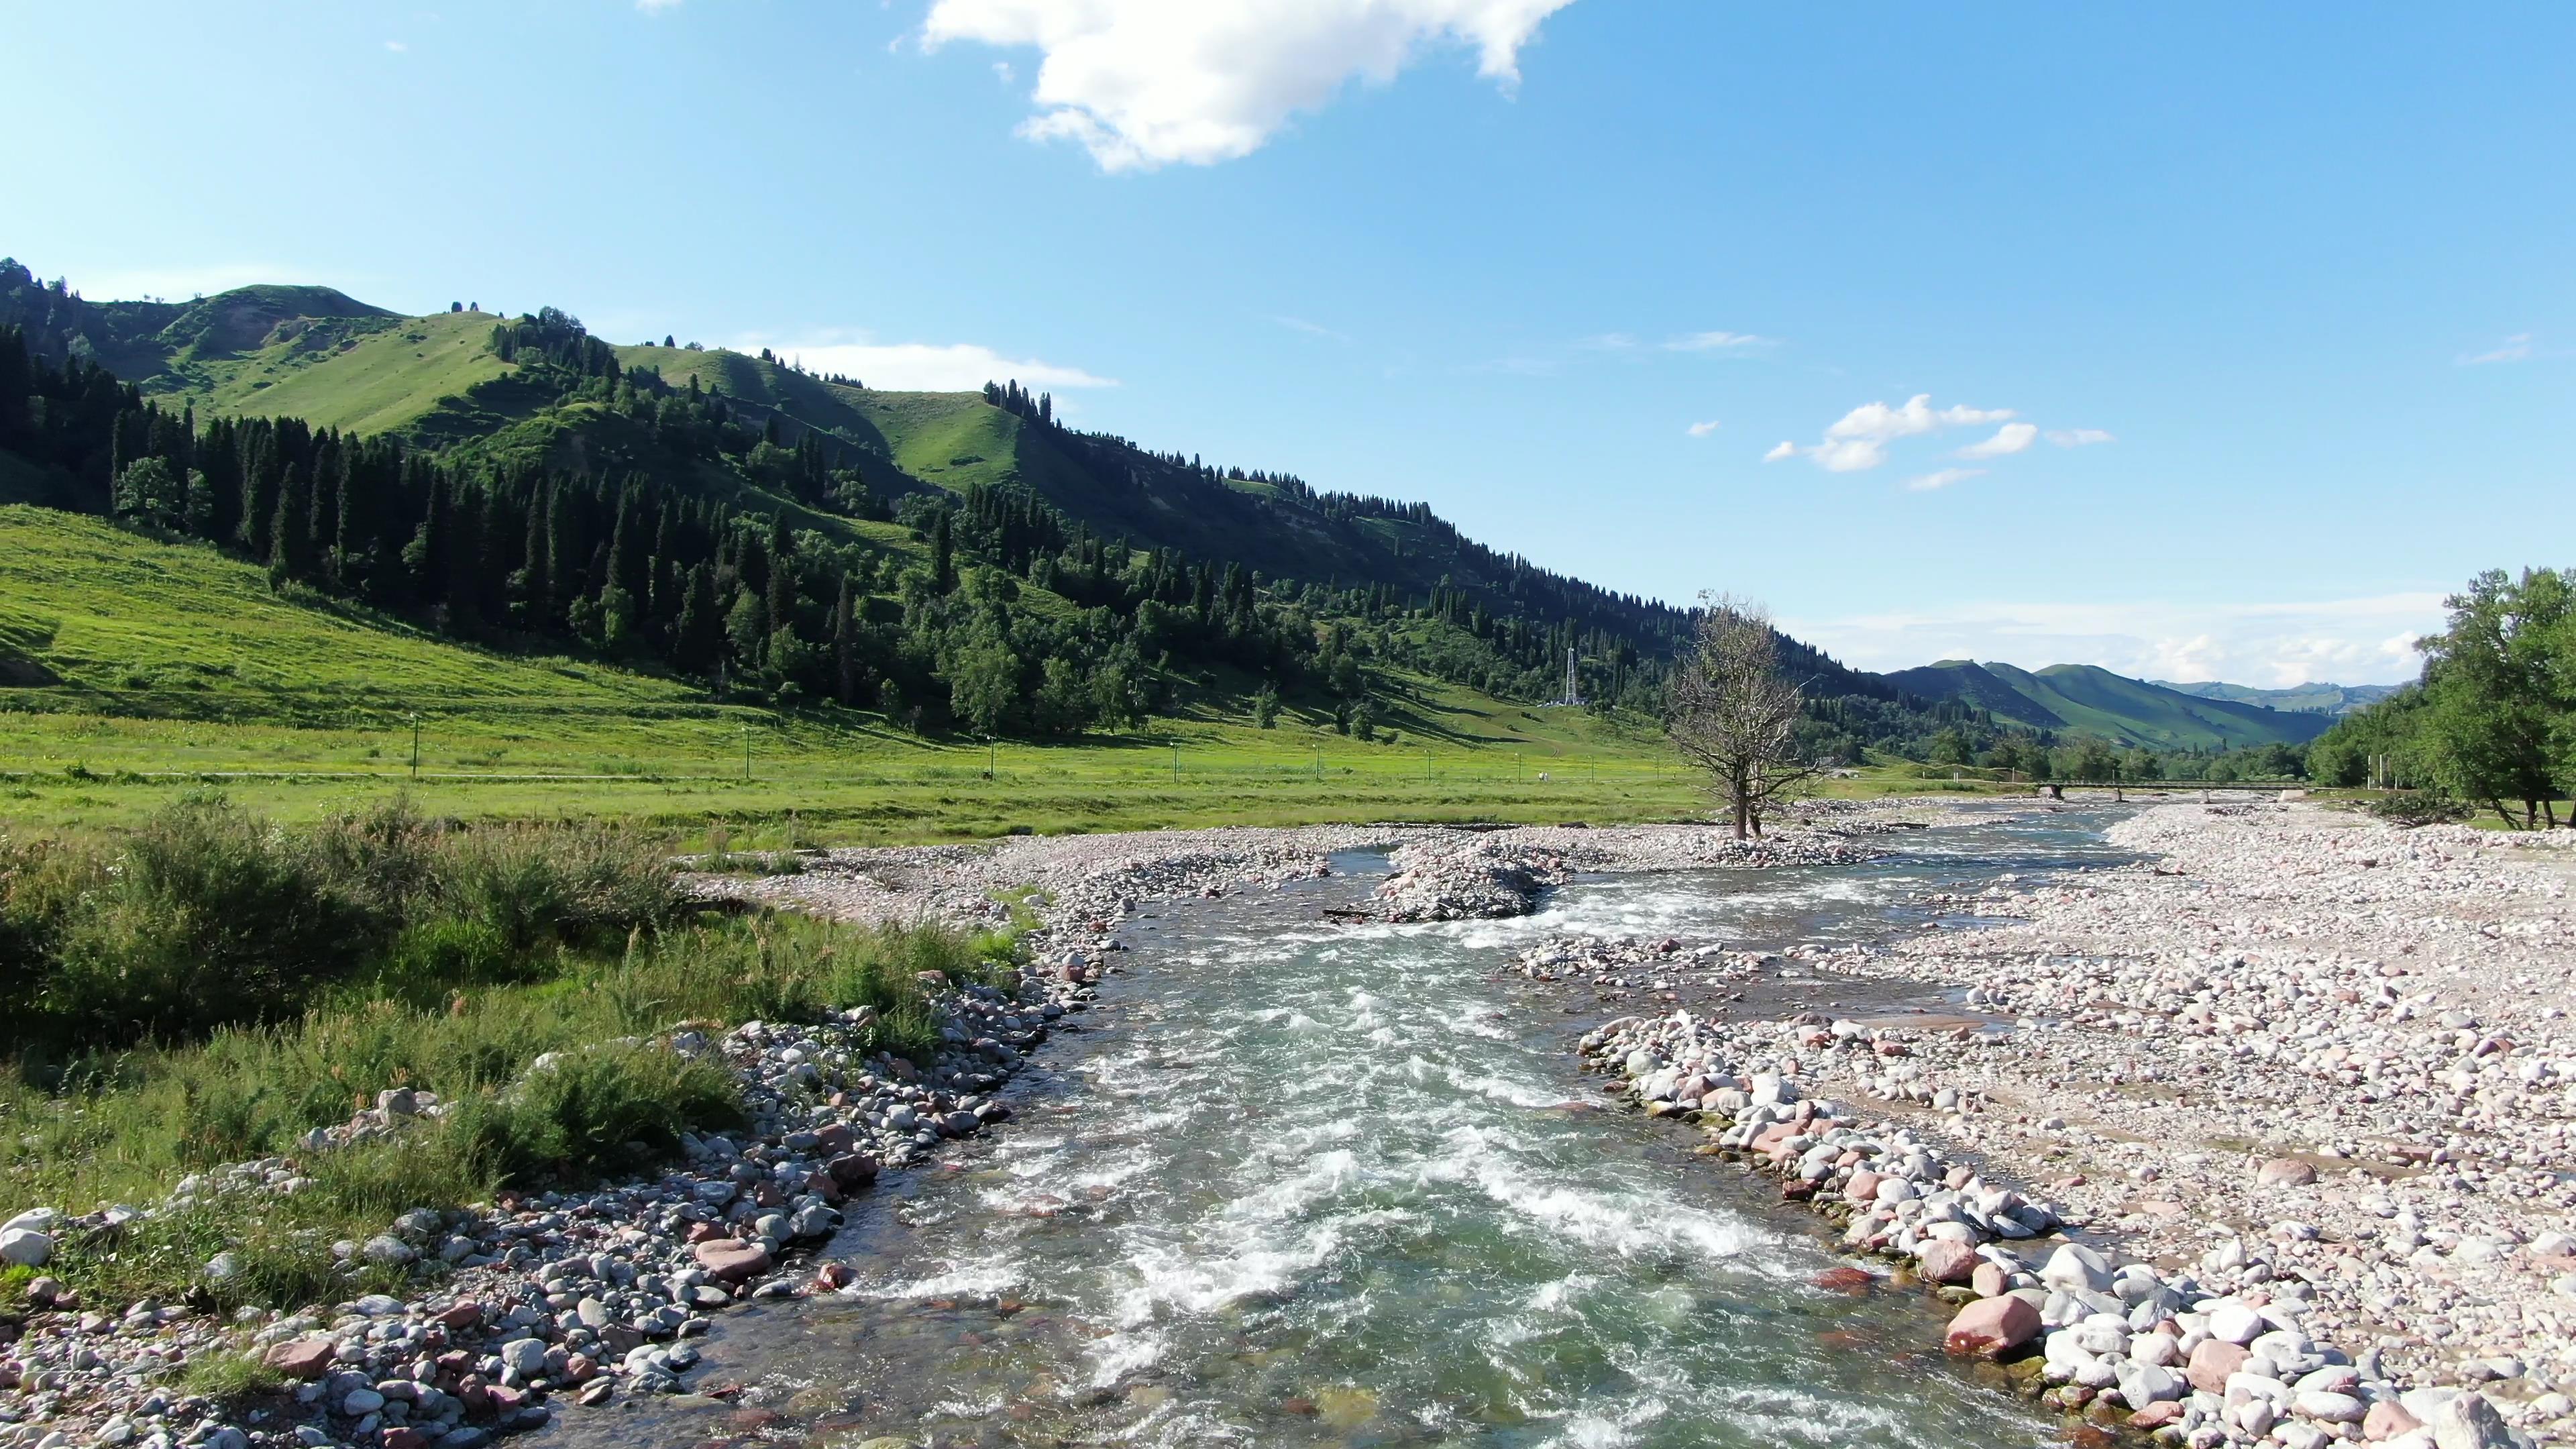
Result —
[[2146, 859], [1929, 902], [2012, 926], [1795, 951], [1955, 982], [1991, 1026], [1674, 1013], [1584, 1049], [2071, 1413], [2195, 1446], [2576, 1439], [2566, 838], [2166, 804], [2112, 841]]

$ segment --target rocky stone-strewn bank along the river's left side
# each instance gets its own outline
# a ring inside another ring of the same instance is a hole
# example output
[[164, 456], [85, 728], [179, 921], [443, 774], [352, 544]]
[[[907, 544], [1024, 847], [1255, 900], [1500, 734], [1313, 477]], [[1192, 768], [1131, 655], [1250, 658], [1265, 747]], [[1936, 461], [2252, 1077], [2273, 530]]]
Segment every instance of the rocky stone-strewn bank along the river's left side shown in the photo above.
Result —
[[[670, 1392], [701, 1364], [696, 1338], [714, 1312], [845, 1281], [840, 1266], [799, 1258], [829, 1243], [850, 1194], [1007, 1116], [997, 1088], [1066, 1013], [1090, 1006], [1121, 923], [1146, 902], [1316, 877], [1337, 851], [1396, 851], [1404, 869], [1381, 895], [1386, 915], [1520, 913], [1571, 871], [1865, 859], [1888, 817], [1842, 810], [1759, 843], [1700, 825], [1015, 838], [829, 851], [783, 877], [690, 877], [708, 900], [845, 920], [1028, 926], [1033, 915], [1036, 928], [1010, 990], [938, 982], [945, 1042], [930, 1067], [866, 1057], [863, 1018], [662, 1036], [672, 1052], [719, 1055], [737, 1073], [750, 1132], [690, 1137], [688, 1160], [652, 1181], [404, 1212], [363, 1243], [335, 1245], [350, 1266], [410, 1276], [412, 1294], [219, 1320], [188, 1302], [88, 1305], [39, 1276], [23, 1302], [0, 1305], [0, 1446], [479, 1449], [549, 1423], [567, 1403]], [[440, 1109], [428, 1093], [384, 1093], [317, 1129], [301, 1158], [191, 1178], [144, 1212], [299, 1191], [309, 1155], [399, 1134]], [[0, 1253], [41, 1274], [57, 1248], [106, 1245], [134, 1217], [28, 1209], [0, 1230]], [[211, 1279], [232, 1269], [222, 1253], [204, 1266]], [[252, 1354], [294, 1387], [247, 1413], [180, 1387], [183, 1364], [224, 1354]], [[696, 1377], [701, 1392], [706, 1377]]]

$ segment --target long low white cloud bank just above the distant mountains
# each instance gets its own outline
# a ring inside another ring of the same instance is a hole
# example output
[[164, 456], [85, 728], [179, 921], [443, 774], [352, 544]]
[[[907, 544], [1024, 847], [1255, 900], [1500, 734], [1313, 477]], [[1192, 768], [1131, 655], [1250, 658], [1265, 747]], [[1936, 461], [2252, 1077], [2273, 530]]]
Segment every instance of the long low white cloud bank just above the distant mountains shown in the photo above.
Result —
[[2102, 665], [2136, 678], [2403, 683], [2414, 642], [2442, 627], [2439, 593], [2383, 593], [2293, 603], [1968, 603], [1937, 614], [1780, 619], [1855, 668], [2004, 660], [2022, 668]]

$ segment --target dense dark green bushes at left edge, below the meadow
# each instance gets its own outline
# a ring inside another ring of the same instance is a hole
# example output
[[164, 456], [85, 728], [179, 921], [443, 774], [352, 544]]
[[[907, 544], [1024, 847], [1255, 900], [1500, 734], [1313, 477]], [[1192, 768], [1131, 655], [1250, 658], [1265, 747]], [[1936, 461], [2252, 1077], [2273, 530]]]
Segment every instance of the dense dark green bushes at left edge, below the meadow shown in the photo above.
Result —
[[672, 910], [667, 861], [626, 830], [453, 830], [397, 799], [291, 833], [198, 794], [113, 846], [0, 846], [0, 1047], [198, 1039], [371, 975], [415, 995], [536, 975]]

